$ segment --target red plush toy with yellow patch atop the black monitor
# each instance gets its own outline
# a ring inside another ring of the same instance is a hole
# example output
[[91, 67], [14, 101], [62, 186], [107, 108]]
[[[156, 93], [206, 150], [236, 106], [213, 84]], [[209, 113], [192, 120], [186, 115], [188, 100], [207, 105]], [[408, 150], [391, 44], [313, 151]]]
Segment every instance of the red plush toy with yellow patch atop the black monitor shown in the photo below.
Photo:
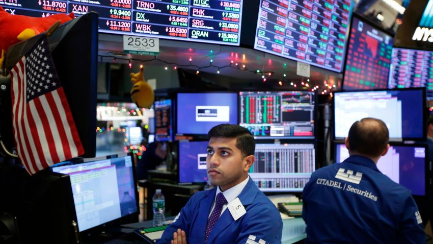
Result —
[[48, 17], [29, 17], [24, 15], [14, 15], [6, 12], [0, 6], [0, 68], [3, 66], [8, 47], [27, 40], [35, 35], [48, 30], [57, 21], [67, 22], [75, 18], [74, 13], [53, 14]]

